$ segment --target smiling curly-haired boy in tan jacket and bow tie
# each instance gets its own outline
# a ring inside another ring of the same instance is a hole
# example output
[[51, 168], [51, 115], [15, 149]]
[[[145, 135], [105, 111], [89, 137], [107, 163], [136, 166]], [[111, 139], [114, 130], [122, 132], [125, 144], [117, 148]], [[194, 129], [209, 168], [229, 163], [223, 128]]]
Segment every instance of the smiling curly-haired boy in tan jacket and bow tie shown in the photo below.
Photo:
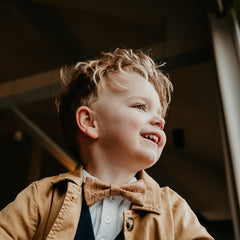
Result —
[[141, 51], [116, 49], [62, 70], [56, 98], [81, 162], [0, 213], [0, 239], [213, 239], [184, 199], [144, 171], [164, 148], [172, 85]]

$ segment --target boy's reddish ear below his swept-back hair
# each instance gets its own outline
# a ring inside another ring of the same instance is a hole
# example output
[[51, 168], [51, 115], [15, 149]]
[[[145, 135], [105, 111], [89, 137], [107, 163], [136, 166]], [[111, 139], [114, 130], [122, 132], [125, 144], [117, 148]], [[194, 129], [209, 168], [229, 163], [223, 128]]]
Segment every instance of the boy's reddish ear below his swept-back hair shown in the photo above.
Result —
[[98, 138], [98, 127], [94, 111], [87, 106], [81, 106], [76, 111], [76, 122], [79, 129], [92, 139]]

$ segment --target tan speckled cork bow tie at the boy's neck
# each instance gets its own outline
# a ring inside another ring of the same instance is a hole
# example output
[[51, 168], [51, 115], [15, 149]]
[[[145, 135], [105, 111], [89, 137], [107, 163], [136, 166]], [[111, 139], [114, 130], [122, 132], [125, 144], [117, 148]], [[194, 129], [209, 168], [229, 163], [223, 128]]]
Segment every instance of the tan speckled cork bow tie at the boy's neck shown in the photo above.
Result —
[[84, 197], [88, 206], [108, 196], [122, 196], [134, 204], [143, 206], [145, 192], [146, 186], [143, 180], [118, 186], [87, 177], [84, 184]]

